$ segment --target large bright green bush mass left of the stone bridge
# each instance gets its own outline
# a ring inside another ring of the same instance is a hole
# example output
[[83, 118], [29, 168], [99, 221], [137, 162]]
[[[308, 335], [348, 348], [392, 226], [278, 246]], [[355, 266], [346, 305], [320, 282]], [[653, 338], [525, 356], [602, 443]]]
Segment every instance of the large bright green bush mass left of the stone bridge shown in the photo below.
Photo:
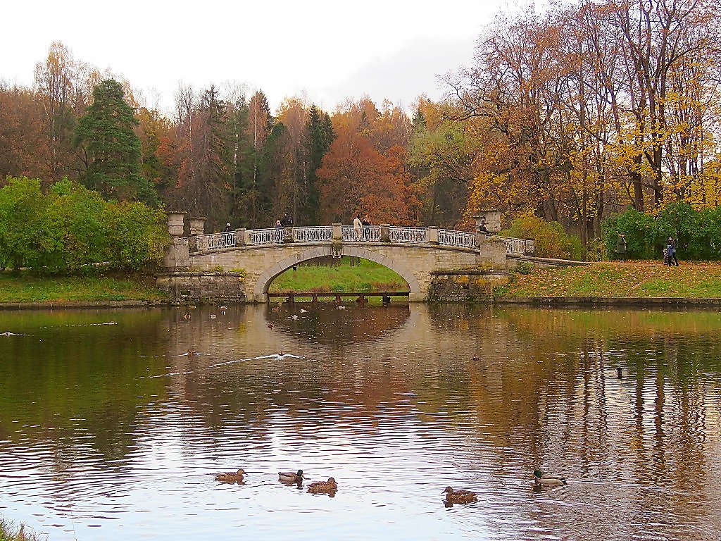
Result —
[[46, 193], [40, 180], [9, 178], [0, 188], [0, 269], [88, 273], [137, 271], [162, 259], [169, 236], [162, 208], [109, 203], [63, 179]]

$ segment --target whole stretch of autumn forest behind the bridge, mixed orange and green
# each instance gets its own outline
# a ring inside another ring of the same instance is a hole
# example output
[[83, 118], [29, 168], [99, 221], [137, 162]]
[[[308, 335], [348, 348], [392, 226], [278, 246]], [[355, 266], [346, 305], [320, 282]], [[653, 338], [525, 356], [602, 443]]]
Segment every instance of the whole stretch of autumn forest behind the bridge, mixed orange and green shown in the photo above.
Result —
[[273, 114], [262, 90], [180, 85], [163, 113], [55, 42], [32, 87], [0, 82], [0, 179], [68, 177], [211, 229], [269, 227], [286, 212], [296, 225], [368, 214], [463, 228], [500, 208], [585, 243], [629, 206], [719, 204], [719, 8], [583, 0], [497, 17], [472, 66], [448, 66], [447, 97], [420, 96], [410, 112], [287, 97]]

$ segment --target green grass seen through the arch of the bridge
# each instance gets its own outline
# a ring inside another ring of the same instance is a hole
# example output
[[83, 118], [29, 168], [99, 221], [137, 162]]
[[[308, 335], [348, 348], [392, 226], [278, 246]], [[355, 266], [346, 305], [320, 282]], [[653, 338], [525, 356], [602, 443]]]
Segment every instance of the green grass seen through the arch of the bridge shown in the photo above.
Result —
[[350, 263], [350, 258], [342, 258], [340, 264], [334, 266], [298, 265], [296, 271], [291, 268], [275, 278], [269, 291], [408, 291], [403, 278], [379, 263], [364, 259], [358, 265]]

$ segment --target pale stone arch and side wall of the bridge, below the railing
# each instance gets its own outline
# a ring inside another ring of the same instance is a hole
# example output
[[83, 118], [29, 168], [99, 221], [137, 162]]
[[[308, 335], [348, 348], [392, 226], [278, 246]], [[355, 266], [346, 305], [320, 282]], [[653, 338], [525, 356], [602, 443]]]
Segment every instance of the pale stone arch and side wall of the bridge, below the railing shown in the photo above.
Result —
[[[331, 243], [293, 243], [272, 246], [242, 246], [215, 252], [191, 253], [190, 271], [244, 271], [242, 283], [247, 302], [266, 302], [273, 279], [303, 261], [333, 255]], [[492, 239], [479, 248], [434, 245], [389, 245], [363, 243], [342, 245], [335, 255], [349, 255], [380, 263], [399, 274], [410, 288], [410, 301], [428, 300], [434, 271], [495, 268], [505, 271], [505, 245]]]

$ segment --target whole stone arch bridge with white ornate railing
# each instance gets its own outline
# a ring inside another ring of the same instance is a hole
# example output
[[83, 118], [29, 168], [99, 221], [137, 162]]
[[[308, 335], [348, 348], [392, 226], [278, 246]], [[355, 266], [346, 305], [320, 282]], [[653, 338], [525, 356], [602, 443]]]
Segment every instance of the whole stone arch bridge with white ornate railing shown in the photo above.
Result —
[[523, 239], [482, 233], [388, 225], [358, 230], [333, 224], [174, 236], [164, 261], [176, 289], [177, 283], [180, 288], [183, 281], [190, 286], [199, 276], [242, 271], [244, 279], [235, 275], [234, 283], [244, 299], [266, 302], [270, 283], [293, 265], [322, 256], [350, 255], [392, 269], [408, 283], [410, 301], [425, 301], [433, 276], [439, 272], [505, 273], [507, 252], [526, 250]]

